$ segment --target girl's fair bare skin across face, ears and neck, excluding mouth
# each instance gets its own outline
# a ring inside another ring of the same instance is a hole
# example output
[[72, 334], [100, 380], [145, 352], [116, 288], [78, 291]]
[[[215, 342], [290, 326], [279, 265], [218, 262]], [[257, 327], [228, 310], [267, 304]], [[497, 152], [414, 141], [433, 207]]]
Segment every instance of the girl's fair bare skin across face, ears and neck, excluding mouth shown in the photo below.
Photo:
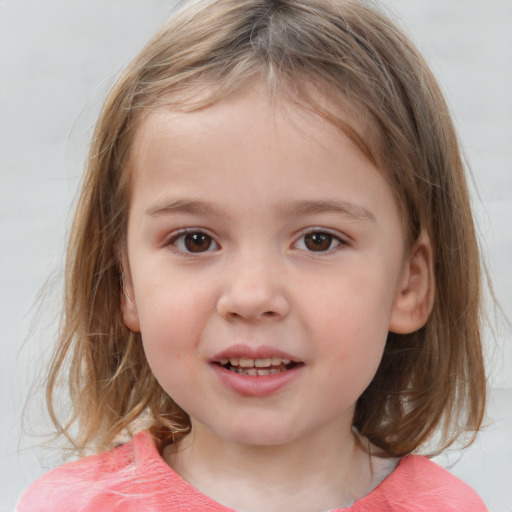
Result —
[[[151, 113], [129, 164], [124, 320], [192, 424], [164, 459], [243, 511], [326, 510], [370, 492], [392, 465], [357, 442], [355, 403], [388, 331], [421, 327], [432, 296], [430, 243], [404, 246], [384, 172], [261, 84]], [[299, 364], [248, 396], [220, 377], [226, 350]]]

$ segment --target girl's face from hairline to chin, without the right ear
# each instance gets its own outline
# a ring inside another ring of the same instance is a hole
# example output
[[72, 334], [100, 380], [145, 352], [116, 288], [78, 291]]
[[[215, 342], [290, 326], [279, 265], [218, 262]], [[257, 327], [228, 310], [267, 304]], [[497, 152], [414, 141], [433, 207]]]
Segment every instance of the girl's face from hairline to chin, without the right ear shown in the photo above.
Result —
[[151, 114], [130, 172], [125, 322], [196, 436], [349, 432], [404, 279], [382, 173], [263, 88]]

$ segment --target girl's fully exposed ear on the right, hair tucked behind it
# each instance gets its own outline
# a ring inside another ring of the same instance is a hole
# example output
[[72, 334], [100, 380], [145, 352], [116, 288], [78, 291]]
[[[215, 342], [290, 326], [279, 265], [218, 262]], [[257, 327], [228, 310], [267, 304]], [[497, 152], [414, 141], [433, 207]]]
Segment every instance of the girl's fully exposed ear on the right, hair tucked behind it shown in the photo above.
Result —
[[434, 306], [434, 292], [432, 243], [426, 233], [421, 233], [404, 262], [389, 330], [398, 334], [408, 334], [423, 327]]

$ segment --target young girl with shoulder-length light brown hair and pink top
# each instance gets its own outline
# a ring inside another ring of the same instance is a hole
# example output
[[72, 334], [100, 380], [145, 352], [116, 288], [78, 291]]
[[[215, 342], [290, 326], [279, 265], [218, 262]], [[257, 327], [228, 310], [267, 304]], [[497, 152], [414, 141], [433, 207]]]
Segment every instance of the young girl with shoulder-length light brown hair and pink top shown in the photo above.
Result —
[[411, 455], [480, 428], [480, 263], [442, 94], [377, 8], [186, 4], [105, 103], [66, 279], [50, 413], [98, 454], [18, 512], [486, 510]]

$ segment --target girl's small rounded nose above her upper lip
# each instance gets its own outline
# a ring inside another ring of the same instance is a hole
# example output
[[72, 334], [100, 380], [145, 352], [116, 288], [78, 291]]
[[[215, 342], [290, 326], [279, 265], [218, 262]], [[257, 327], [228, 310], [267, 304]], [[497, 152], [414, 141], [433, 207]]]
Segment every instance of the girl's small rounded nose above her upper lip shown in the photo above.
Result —
[[254, 257], [228, 263], [225, 284], [217, 302], [227, 320], [281, 320], [290, 311], [285, 279], [276, 262]]

